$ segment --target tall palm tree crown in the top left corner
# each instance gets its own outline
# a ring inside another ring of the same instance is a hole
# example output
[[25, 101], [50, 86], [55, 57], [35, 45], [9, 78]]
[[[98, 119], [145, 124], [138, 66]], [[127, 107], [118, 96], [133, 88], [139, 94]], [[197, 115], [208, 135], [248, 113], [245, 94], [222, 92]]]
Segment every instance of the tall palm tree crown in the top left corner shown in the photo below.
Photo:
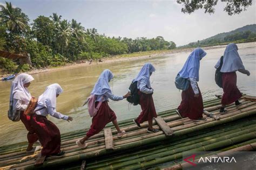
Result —
[[0, 5], [1, 24], [5, 25], [11, 33], [22, 33], [29, 29], [29, 18], [20, 8], [13, 8], [11, 3]]

